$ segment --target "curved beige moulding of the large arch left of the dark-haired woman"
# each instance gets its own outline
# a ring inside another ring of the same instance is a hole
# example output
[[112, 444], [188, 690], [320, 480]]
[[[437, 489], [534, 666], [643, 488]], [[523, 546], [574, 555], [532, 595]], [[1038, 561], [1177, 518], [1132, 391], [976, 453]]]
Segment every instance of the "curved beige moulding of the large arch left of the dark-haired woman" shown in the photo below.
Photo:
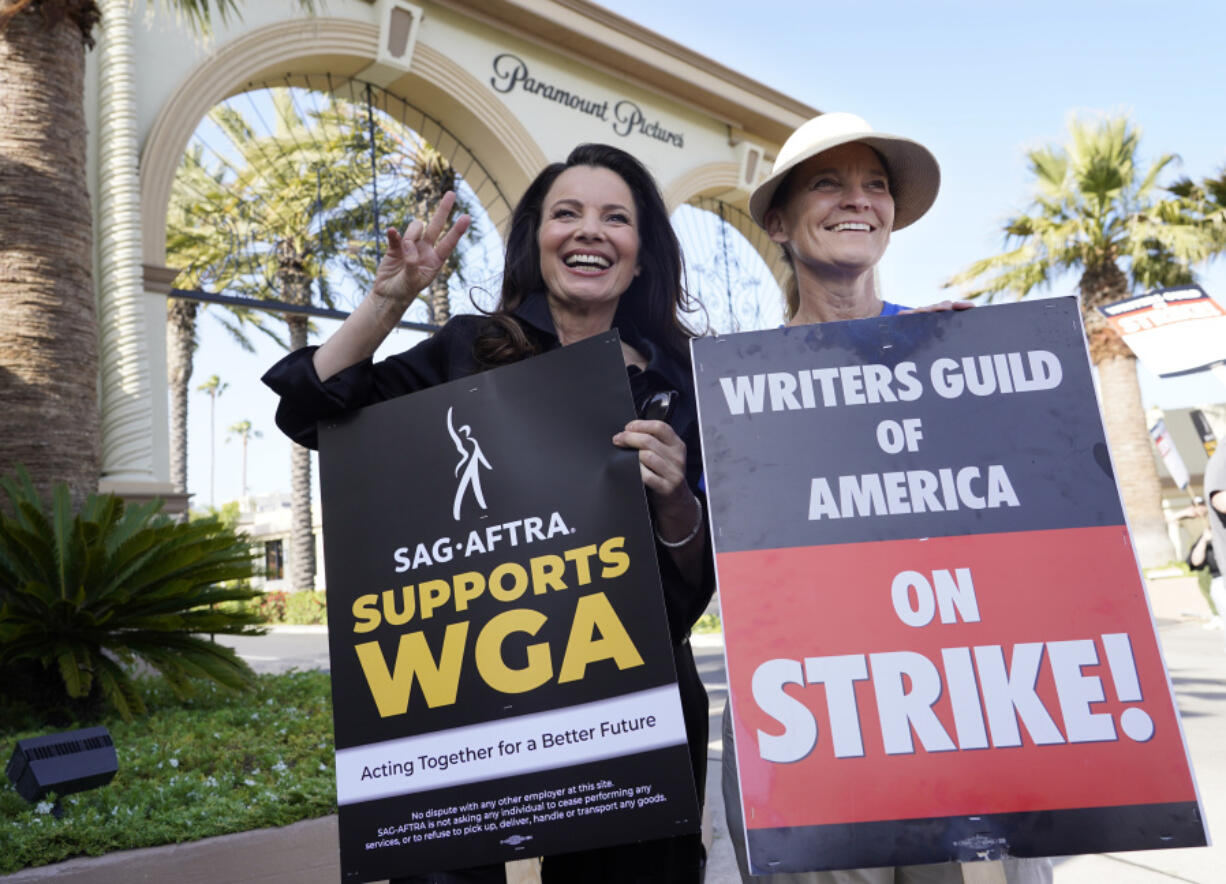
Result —
[[[166, 215], [174, 173], [191, 134], [218, 102], [249, 83], [286, 74], [356, 76], [379, 49], [379, 28], [346, 18], [293, 20], [251, 31], [188, 75], [162, 105], [141, 154], [141, 251], [166, 261]], [[546, 163], [505, 105], [443, 51], [418, 42], [411, 72], [386, 87], [444, 121], [514, 201]]]

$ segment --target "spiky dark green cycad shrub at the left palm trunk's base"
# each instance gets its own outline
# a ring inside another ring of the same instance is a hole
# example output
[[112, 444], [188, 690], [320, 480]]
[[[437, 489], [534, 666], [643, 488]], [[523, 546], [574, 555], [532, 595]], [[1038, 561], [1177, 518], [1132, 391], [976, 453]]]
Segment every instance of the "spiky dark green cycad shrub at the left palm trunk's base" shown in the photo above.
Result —
[[217, 520], [178, 524], [161, 501], [128, 506], [113, 494], [91, 494], [74, 514], [64, 484], [48, 511], [20, 468], [0, 488], [13, 512], [0, 514], [0, 690], [48, 710], [48, 721], [93, 717], [108, 703], [129, 720], [145, 712], [137, 662], [180, 698], [197, 678], [253, 684], [245, 662], [202, 638], [262, 631], [254, 614], [213, 607], [257, 595], [234, 585], [254, 569], [245, 539]]

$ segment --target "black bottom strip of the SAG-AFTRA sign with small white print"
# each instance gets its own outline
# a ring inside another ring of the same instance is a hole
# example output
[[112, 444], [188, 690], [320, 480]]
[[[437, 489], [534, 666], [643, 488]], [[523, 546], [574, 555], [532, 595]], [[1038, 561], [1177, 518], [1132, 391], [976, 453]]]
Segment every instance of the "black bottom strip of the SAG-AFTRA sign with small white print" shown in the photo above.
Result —
[[[696, 831], [701, 820], [694, 806], [689, 769], [689, 752], [678, 745], [543, 774], [456, 786], [445, 793], [408, 794], [348, 806], [342, 808], [346, 815], [346, 825], [341, 829], [343, 879], [378, 880], [421, 869], [441, 872], [471, 866], [477, 856], [501, 856], [510, 861], [566, 853], [580, 846], [601, 847]], [[549, 790], [565, 794], [522, 799]], [[663, 801], [658, 796], [663, 796]], [[620, 807], [624, 801], [633, 807]], [[473, 802], [478, 810], [460, 810]], [[494, 810], [481, 810], [482, 802], [494, 802]], [[552, 808], [548, 802], [553, 803]], [[538, 807], [541, 803], [546, 807]], [[511, 813], [526, 807], [533, 809]], [[449, 808], [456, 812], [440, 813]], [[573, 812], [570, 817], [566, 817], [568, 810]], [[474, 813], [481, 821], [471, 819]], [[487, 820], [485, 813], [495, 817]], [[441, 824], [444, 819], [456, 818], [467, 818], [457, 824], [459, 834], [454, 834], [456, 825]], [[494, 829], [485, 831], [484, 825]], [[452, 834], [440, 836], [443, 831]]]

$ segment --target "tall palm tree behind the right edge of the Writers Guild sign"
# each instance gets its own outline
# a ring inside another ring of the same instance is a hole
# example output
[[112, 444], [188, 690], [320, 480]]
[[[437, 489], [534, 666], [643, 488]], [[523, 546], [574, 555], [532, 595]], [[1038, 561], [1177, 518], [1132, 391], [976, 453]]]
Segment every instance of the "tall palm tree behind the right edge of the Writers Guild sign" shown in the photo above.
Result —
[[1159, 177], [1176, 157], [1162, 156], [1145, 169], [1137, 156], [1139, 141], [1139, 129], [1127, 118], [1070, 119], [1065, 146], [1027, 153], [1034, 202], [1029, 213], [1004, 226], [1013, 248], [976, 261], [945, 284], [970, 286], [969, 297], [1022, 298], [1065, 272], [1080, 275], [1107, 439], [1138, 554], [1151, 566], [1170, 562], [1172, 548], [1137, 358], [1098, 308], [1137, 288], [1190, 281], [1192, 266], [1213, 254], [1214, 244], [1203, 216], [1159, 188]]

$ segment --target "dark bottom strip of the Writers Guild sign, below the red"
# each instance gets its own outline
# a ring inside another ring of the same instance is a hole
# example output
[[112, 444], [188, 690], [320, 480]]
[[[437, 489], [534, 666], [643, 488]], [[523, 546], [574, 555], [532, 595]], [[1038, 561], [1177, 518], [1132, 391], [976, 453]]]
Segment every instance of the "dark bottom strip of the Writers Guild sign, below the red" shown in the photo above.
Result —
[[749, 830], [755, 874], [1205, 844], [1190, 801]]

